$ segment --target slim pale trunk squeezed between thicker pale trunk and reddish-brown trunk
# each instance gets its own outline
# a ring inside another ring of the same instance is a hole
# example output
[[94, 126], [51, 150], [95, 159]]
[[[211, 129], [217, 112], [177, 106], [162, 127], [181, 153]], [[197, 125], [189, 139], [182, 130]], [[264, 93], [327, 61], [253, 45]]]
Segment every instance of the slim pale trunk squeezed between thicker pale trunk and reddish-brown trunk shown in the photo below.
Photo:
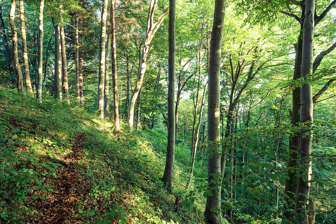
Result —
[[[109, 22], [107, 22], [109, 24]], [[109, 27], [109, 25], [107, 25]], [[110, 114], [110, 99], [109, 99], [109, 64], [110, 64], [110, 53], [111, 53], [111, 32], [107, 28], [107, 43], [105, 51], [105, 78], [104, 78], [104, 114], [109, 116]]]

